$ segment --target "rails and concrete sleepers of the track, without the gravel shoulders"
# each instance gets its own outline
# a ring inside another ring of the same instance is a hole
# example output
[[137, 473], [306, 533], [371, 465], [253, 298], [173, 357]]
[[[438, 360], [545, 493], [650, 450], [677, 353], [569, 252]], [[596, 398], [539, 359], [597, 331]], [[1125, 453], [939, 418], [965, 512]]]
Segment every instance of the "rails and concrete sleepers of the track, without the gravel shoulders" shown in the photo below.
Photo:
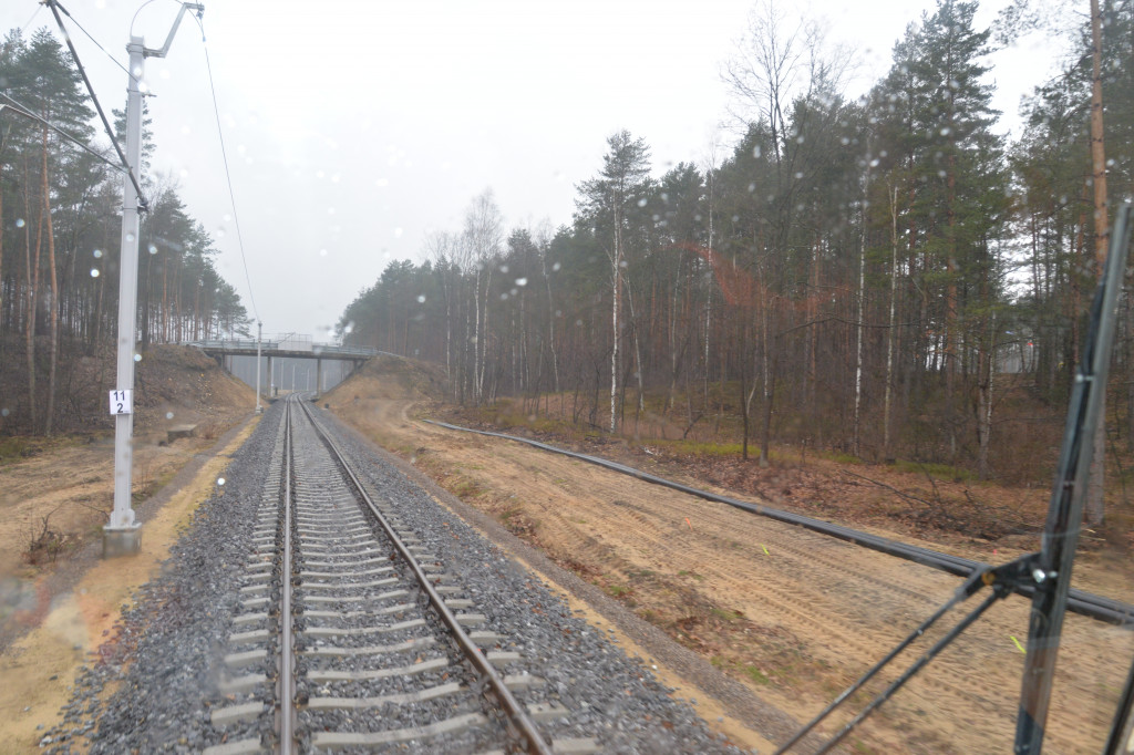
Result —
[[[598, 749], [541, 732], [570, 712], [498, 650], [460, 576], [367, 493], [303, 401], [288, 401], [276, 449], [223, 656], [231, 702], [211, 712], [217, 729], [272, 726], [206, 755]], [[271, 655], [274, 679], [244, 671]]]

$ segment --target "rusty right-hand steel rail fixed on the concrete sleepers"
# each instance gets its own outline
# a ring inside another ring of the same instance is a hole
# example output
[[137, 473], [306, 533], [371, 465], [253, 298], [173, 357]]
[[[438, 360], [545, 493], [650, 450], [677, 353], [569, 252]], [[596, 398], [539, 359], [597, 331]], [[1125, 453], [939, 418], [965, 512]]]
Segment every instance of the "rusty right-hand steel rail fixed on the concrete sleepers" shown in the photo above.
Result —
[[335, 456], [339, 465], [342, 467], [344, 474], [347, 476], [347, 478], [354, 485], [355, 490], [358, 492], [358, 497], [363, 500], [363, 502], [366, 503], [366, 507], [370, 508], [371, 512], [374, 515], [374, 518], [382, 526], [382, 529], [386, 531], [386, 534], [393, 543], [393, 548], [398, 551], [398, 554], [409, 567], [411, 571], [413, 571], [414, 577], [417, 579], [422, 589], [429, 596], [430, 603], [432, 603], [433, 605], [433, 610], [437, 611], [441, 621], [449, 629], [449, 633], [452, 635], [454, 639], [456, 639], [457, 645], [459, 645], [460, 651], [472, 662], [476, 671], [482, 677], [484, 677], [489, 682], [492, 696], [496, 697], [500, 707], [503, 709], [505, 713], [507, 713], [508, 715], [509, 726], [514, 727], [519, 732], [519, 735], [527, 741], [527, 752], [538, 755], [551, 755], [552, 750], [548, 746], [548, 744], [543, 741], [543, 738], [540, 736], [540, 732], [535, 728], [535, 723], [531, 720], [527, 713], [524, 712], [524, 709], [521, 706], [519, 702], [511, 694], [511, 690], [509, 690], [508, 687], [505, 685], [503, 679], [500, 677], [497, 670], [492, 668], [491, 663], [489, 663], [488, 659], [484, 656], [484, 653], [481, 652], [481, 648], [476, 646], [476, 644], [468, 637], [465, 630], [460, 627], [460, 623], [457, 621], [457, 617], [452, 613], [452, 611], [449, 610], [449, 606], [445, 604], [445, 600], [441, 597], [440, 593], [438, 593], [437, 589], [433, 588], [433, 584], [430, 582], [429, 575], [426, 575], [425, 571], [421, 568], [421, 565], [417, 563], [417, 559], [414, 558], [414, 554], [409, 552], [409, 549], [406, 546], [406, 544], [401, 542], [401, 538], [398, 537], [398, 534], [395, 532], [393, 527], [379, 510], [374, 501], [370, 498], [370, 494], [363, 487], [362, 482], [355, 475], [354, 470], [350, 468], [350, 465], [347, 464], [346, 457], [344, 456], [342, 451], [339, 450], [338, 446], [335, 443], [335, 441], [331, 440], [330, 435], [315, 421], [315, 417], [313, 416], [311, 408], [306, 406], [306, 404], [303, 401], [301, 401], [301, 406], [303, 407], [304, 414], [306, 414], [307, 418], [311, 421], [312, 426], [315, 429], [315, 432], [319, 434], [320, 438], [322, 438], [328, 449], [330, 449], [331, 453]]

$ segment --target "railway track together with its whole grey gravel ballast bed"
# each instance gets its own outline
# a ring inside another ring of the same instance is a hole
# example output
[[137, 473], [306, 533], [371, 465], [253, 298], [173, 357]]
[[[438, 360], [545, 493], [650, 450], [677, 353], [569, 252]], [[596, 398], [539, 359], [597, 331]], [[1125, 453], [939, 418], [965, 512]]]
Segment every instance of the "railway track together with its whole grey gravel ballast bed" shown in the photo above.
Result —
[[304, 406], [271, 405], [235, 451], [42, 752], [739, 752], [559, 588]]

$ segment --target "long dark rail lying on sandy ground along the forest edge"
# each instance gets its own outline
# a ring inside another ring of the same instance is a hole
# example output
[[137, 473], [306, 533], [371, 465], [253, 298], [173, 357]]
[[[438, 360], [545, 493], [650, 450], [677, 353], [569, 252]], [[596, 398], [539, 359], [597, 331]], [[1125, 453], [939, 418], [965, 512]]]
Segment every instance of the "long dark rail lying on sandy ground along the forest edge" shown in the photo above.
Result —
[[[854, 543], [855, 545], [861, 545], [863, 548], [869, 548], [871, 550], [879, 551], [881, 553], [887, 553], [889, 555], [895, 555], [907, 561], [913, 561], [915, 563], [921, 563], [922, 566], [928, 566], [933, 569], [939, 569], [946, 571], [957, 577], [970, 577], [974, 572], [982, 571], [984, 569], [992, 568], [992, 565], [984, 563], [982, 561], [974, 561], [972, 559], [960, 558], [959, 555], [950, 555], [948, 553], [941, 553], [940, 551], [932, 551], [926, 548], [919, 548], [916, 545], [909, 545], [896, 540], [890, 540], [888, 537], [881, 537], [879, 535], [872, 535], [870, 533], [861, 532], [858, 529], [852, 529], [850, 527], [844, 527], [843, 525], [832, 524], [830, 521], [823, 521], [822, 519], [813, 519], [811, 517], [805, 517], [799, 514], [792, 514], [790, 511], [784, 511], [781, 509], [775, 509], [760, 503], [750, 503], [747, 501], [741, 501], [735, 498], [729, 498], [728, 495], [719, 495], [706, 490], [701, 490], [699, 487], [692, 487], [689, 485], [684, 485], [672, 480], [666, 480], [665, 477], [659, 477], [652, 475], [649, 472], [643, 472], [634, 467], [627, 466], [625, 464], [619, 464], [617, 461], [611, 461], [610, 459], [603, 459], [598, 456], [590, 456], [586, 453], [578, 453], [576, 451], [568, 451], [567, 449], [558, 448], [549, 443], [542, 443], [540, 441], [530, 440], [527, 438], [518, 438], [516, 435], [508, 435], [505, 433], [492, 432], [489, 430], [475, 430], [473, 427], [462, 427], [460, 425], [449, 424], [447, 422], [437, 422], [434, 419], [425, 419], [425, 422], [431, 425], [437, 425], [439, 427], [446, 427], [448, 430], [457, 430], [466, 433], [476, 433], [479, 435], [489, 435], [491, 438], [502, 438], [505, 440], [516, 441], [519, 443], [526, 443], [534, 448], [539, 448], [544, 451], [550, 451], [552, 453], [559, 453], [573, 459], [578, 459], [581, 461], [586, 461], [589, 464], [594, 464], [613, 472], [618, 472], [632, 477], [636, 477], [643, 482], [652, 483], [654, 485], [661, 485], [663, 487], [669, 487], [682, 493], [687, 493], [689, 495], [695, 495], [702, 498], [706, 501], [716, 501], [718, 503], [726, 503], [737, 509], [748, 511], [750, 514], [756, 514], [760, 516], [768, 517], [770, 519], [776, 519], [777, 521], [782, 521], [785, 524], [795, 525], [797, 527], [803, 527], [805, 529], [811, 529], [812, 532], [818, 532], [823, 535], [829, 535], [838, 540], [846, 541], [848, 543]], [[1019, 595], [1031, 597], [1035, 589], [1031, 585], [1018, 585], [1015, 587], [1015, 592]], [[1123, 603], [1109, 597], [1103, 597], [1102, 595], [1095, 595], [1093, 593], [1086, 593], [1081, 589], [1072, 589], [1070, 596], [1067, 603], [1067, 609], [1080, 613], [1082, 616], [1090, 617], [1092, 619], [1098, 619], [1099, 621], [1106, 621], [1107, 623], [1114, 623], [1122, 626], [1124, 628], [1134, 628], [1134, 605]]]

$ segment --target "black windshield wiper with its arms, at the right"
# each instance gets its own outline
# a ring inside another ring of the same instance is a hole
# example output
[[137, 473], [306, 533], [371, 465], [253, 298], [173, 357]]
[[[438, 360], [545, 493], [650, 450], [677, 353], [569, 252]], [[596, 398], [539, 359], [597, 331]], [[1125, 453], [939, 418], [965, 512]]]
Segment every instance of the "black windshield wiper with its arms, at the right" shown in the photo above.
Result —
[[[1106, 269], [1091, 305], [1088, 338], [1075, 372], [1067, 423], [1064, 429], [1063, 449], [1056, 468], [1051, 502], [1040, 550], [998, 567], [975, 571], [957, 588], [953, 597], [925, 619], [905, 639], [898, 643], [881, 661], [871, 667], [847, 687], [822, 712], [801, 728], [776, 750], [787, 752], [812, 732], [828, 715], [846, 702], [863, 685], [888, 665], [903, 651], [922, 637], [941, 617], [972, 597], [984, 587], [991, 588], [976, 608], [972, 609], [937, 643], [914, 661], [886, 689], [874, 696], [833, 737], [827, 740], [816, 755], [830, 752], [868, 715], [878, 710], [914, 675], [929, 664], [954, 639], [967, 629], [993, 603], [1010, 595], [1019, 586], [1030, 586], [1032, 611], [1027, 629], [1027, 658], [1021, 684], [1019, 711], [1016, 720], [1016, 755], [1040, 755], [1047, 728], [1056, 659], [1067, 613], [1072, 567], [1082, 529], [1083, 504], [1091, 459], [1094, 455], [1094, 432], [1101, 422], [1110, 356], [1115, 340], [1118, 294], [1123, 287], [1126, 258], [1131, 245], [1129, 203], [1118, 209], [1110, 235]], [[1126, 687], [1119, 698], [1115, 721], [1107, 739], [1105, 755], [1134, 752], [1134, 665], [1131, 667]]]

